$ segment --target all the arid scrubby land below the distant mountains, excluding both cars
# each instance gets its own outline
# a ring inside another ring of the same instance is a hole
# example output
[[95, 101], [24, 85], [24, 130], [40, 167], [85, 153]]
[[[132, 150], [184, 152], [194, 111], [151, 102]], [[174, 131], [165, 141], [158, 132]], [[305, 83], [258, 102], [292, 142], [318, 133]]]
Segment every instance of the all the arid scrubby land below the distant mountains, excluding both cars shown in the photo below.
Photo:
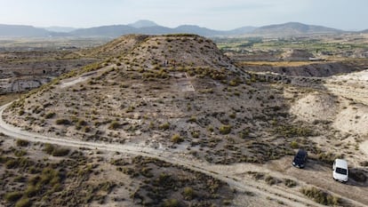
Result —
[[367, 206], [368, 36], [339, 38], [0, 52], [0, 205]]

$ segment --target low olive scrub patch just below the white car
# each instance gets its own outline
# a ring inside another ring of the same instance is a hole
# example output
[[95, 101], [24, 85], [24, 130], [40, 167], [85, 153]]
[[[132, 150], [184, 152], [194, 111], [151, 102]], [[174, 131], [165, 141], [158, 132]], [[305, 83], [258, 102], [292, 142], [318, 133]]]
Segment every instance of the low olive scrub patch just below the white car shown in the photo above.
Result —
[[324, 205], [340, 205], [341, 204], [340, 197], [330, 195], [316, 187], [309, 187], [309, 188], [304, 187], [300, 189], [300, 192], [304, 195], [307, 195], [308, 198], [312, 199], [316, 203], [321, 203]]

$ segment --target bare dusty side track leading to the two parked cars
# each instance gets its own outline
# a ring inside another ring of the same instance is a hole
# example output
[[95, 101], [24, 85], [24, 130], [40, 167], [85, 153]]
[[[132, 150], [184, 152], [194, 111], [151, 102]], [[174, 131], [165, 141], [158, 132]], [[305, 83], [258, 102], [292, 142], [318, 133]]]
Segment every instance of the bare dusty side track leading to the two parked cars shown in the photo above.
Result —
[[[235, 176], [240, 179], [252, 179], [248, 171], [263, 172], [266, 176], [272, 176], [276, 179], [293, 179], [298, 182], [297, 187], [284, 187], [283, 183], [276, 186], [269, 187], [264, 181], [247, 181], [249, 185], [260, 185], [268, 188], [270, 192], [277, 192], [282, 190], [288, 192], [290, 198], [294, 198], [296, 195], [301, 195], [300, 188], [306, 185], [320, 187], [332, 192], [334, 195], [344, 197], [349, 200], [353, 205], [368, 204], [368, 184], [363, 186], [356, 186], [356, 182], [352, 179], [348, 181], [348, 184], [341, 184], [332, 179], [331, 166], [321, 165], [316, 161], [309, 160], [307, 167], [303, 170], [294, 168], [291, 164], [292, 156], [284, 157], [280, 160], [268, 162], [266, 164], [253, 164], [253, 163], [238, 163], [233, 165], [212, 165], [209, 168], [212, 171], [222, 171], [229, 177]], [[354, 200], [354, 201], [352, 201]]]

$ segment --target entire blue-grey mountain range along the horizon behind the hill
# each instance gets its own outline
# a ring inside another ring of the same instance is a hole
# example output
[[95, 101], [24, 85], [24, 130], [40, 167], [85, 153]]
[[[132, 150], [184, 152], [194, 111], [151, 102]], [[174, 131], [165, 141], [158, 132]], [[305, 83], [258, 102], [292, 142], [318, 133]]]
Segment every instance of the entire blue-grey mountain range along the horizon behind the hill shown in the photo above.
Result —
[[[52, 30], [52, 28], [54, 28]], [[55, 30], [55, 28], [57, 30]], [[67, 29], [67, 30], [65, 30]], [[244, 36], [244, 35], [306, 35], [306, 34], [340, 34], [347, 31], [327, 28], [324, 26], [307, 25], [300, 22], [287, 22], [284, 24], [267, 25], [260, 28], [245, 26], [230, 30], [215, 30], [197, 25], [180, 25], [176, 28], [167, 28], [150, 20], [138, 20], [127, 25], [105, 25], [92, 28], [50, 27], [36, 28], [33, 26], [0, 24], [0, 36], [104, 36], [116, 38], [129, 34], [164, 35], [164, 34], [196, 34], [198, 36]], [[68, 32], [66, 32], [68, 31]], [[363, 30], [366, 33], [367, 30]]]

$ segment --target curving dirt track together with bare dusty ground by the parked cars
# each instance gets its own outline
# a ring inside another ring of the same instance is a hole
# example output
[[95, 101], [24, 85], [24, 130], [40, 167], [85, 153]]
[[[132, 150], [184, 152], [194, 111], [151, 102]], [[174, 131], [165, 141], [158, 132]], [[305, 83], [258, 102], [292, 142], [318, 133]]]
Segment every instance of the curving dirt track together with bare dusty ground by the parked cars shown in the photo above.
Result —
[[[308, 168], [306, 170], [295, 169], [291, 167], [290, 162], [292, 157], [290, 156], [264, 165], [253, 163], [214, 165], [197, 161], [190, 155], [173, 153], [168, 148], [160, 150], [134, 145], [112, 145], [106, 143], [77, 141], [68, 138], [46, 137], [33, 132], [22, 131], [19, 128], [4, 123], [2, 119], [0, 119], [0, 126], [0, 131], [4, 134], [20, 139], [49, 142], [66, 147], [89, 147], [92, 149], [124, 152], [132, 155], [156, 157], [168, 163], [180, 164], [193, 171], [204, 172], [214, 178], [228, 182], [230, 187], [235, 187], [239, 191], [239, 194], [235, 199], [236, 206], [277, 206], [281, 205], [280, 203], [284, 203], [286, 206], [320, 206], [300, 194], [300, 186], [307, 186], [310, 184], [323, 188], [327, 186], [328, 190], [343, 197], [350, 203], [354, 203], [355, 206], [364, 206], [364, 203], [368, 203], [368, 200], [366, 199], [368, 198], [368, 191], [365, 190], [366, 187], [356, 187], [353, 185], [340, 186], [342, 184], [336, 183], [331, 178], [331, 170], [318, 163], [308, 164]], [[288, 188], [284, 187], [284, 184], [279, 184], [269, 187], [264, 181], [253, 179], [249, 174], [247, 174], [248, 171], [265, 172], [267, 175], [281, 180], [284, 178], [294, 179], [298, 181], [299, 186]], [[311, 174], [311, 172], [313, 173]], [[251, 192], [254, 196], [251, 199], [242, 199], [241, 195], [246, 195], [246, 192]], [[354, 199], [355, 201], [350, 199]]]

